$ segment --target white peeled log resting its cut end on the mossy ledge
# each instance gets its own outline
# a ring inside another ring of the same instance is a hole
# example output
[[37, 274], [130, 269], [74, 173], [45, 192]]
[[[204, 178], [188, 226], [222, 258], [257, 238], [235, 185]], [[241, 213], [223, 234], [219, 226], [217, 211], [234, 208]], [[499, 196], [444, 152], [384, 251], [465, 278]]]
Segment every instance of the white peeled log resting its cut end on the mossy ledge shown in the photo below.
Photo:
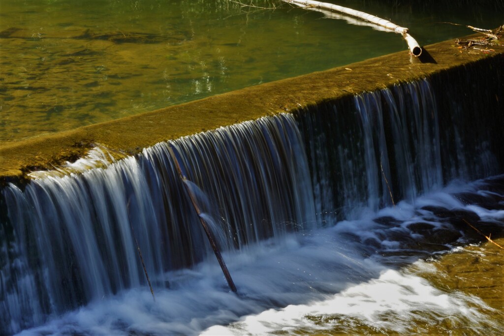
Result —
[[[367, 14], [361, 11], [356, 11], [351, 8], [342, 7], [334, 4], [323, 3], [320, 1], [311, 1], [311, 0], [282, 0], [289, 4], [294, 4], [299, 7], [303, 7], [306, 9], [326, 9], [337, 13], [342, 13], [354, 18], [361, 19], [363, 21], [370, 22], [376, 26], [380, 26], [385, 28], [387, 31], [391, 31], [397, 34], [401, 34], [408, 44], [408, 48], [414, 56], [418, 57], [422, 54], [422, 48], [418, 44], [418, 42], [408, 33], [408, 28], [400, 27], [389, 20], [385, 20], [379, 18], [377, 16]], [[322, 11], [321, 11], [322, 12]], [[327, 14], [326, 14], [327, 15]]]

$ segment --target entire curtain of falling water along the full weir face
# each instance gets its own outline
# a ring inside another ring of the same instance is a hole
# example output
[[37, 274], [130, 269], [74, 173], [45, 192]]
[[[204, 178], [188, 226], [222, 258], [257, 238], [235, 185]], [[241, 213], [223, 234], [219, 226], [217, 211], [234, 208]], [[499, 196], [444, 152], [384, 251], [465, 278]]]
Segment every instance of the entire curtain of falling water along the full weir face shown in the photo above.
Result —
[[7, 185], [0, 332], [146, 286], [135, 241], [155, 290], [169, 287], [168, 271], [212, 256], [182, 183], [218, 247], [232, 252], [414, 202], [454, 178], [498, 173], [486, 123], [467, 140], [460, 122], [445, 120], [465, 112], [441, 111], [445, 100], [433, 85], [420, 80], [348, 96], [159, 143], [104, 167]]

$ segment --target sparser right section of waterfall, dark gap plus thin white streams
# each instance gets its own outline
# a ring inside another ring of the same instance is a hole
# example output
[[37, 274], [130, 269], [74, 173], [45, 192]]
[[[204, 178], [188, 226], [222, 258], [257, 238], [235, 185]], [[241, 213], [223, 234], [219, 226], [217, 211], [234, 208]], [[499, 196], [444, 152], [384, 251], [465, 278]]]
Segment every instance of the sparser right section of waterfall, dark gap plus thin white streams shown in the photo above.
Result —
[[443, 185], [438, 111], [427, 80], [315, 109], [299, 118], [319, 213], [332, 209], [343, 219]]

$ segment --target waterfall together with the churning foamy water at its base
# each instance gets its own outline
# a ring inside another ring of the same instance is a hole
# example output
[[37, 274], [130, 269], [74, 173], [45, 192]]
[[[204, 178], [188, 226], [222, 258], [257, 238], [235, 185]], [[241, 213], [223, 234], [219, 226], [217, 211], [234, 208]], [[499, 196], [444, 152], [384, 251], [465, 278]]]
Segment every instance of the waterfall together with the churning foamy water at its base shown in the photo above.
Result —
[[[464, 109], [448, 113], [438, 86], [408, 83], [117, 162], [96, 149], [6, 186], [0, 331], [496, 333], [501, 313], [425, 277], [437, 256], [481, 241], [465, 222], [494, 234], [504, 222], [499, 119], [458, 119]], [[474, 104], [478, 118], [499, 103]]]

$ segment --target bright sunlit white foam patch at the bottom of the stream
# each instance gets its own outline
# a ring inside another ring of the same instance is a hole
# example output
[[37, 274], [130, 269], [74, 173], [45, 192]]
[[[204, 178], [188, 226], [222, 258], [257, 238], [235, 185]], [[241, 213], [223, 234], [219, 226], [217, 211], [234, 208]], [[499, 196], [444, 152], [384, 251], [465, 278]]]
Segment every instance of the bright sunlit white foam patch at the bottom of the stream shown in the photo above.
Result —
[[[351, 317], [374, 329], [399, 333], [412, 332], [414, 321], [432, 324], [445, 317], [460, 318], [478, 327], [479, 321], [487, 318], [470, 305], [481, 304], [461, 293], [442, 292], [418, 276], [387, 270], [378, 279], [350, 287], [324, 301], [269, 309], [228, 326], [212, 326], [202, 334], [259, 335], [280, 330], [331, 330], [339, 321], [331, 316]], [[328, 319], [315, 323], [308, 318], [310, 316], [327, 316]]]

